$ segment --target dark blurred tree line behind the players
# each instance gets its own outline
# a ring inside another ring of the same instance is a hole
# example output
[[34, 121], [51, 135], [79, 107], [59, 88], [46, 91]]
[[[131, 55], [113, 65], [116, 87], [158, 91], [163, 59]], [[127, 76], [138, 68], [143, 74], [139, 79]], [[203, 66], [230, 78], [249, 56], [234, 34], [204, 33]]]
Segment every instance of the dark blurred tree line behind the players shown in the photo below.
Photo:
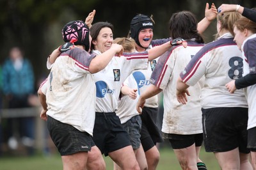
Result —
[[[31, 60], [35, 78], [47, 76], [46, 59], [63, 43], [62, 27], [70, 20], [84, 20], [93, 9], [96, 10], [93, 22], [108, 21], [115, 26], [114, 38], [127, 36], [136, 14], [152, 14], [156, 39], [169, 36], [168, 20], [172, 13], [189, 10], [199, 22], [204, 18], [206, 3], [210, 6], [214, 3], [216, 8], [222, 3], [256, 6], [255, 0], [0, 0], [0, 64], [8, 57], [10, 48], [17, 45]], [[216, 22], [212, 22], [204, 33], [205, 42], [211, 42], [215, 33]]]

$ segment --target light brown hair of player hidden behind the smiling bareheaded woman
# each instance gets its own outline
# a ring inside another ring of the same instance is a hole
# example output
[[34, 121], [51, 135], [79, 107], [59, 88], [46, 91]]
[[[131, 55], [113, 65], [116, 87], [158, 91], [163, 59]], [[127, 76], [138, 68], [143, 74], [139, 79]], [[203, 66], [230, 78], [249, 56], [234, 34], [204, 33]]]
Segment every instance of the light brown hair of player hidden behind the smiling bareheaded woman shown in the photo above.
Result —
[[135, 41], [132, 38], [115, 38], [113, 43], [118, 43], [124, 47], [124, 52], [134, 52], [135, 49]]

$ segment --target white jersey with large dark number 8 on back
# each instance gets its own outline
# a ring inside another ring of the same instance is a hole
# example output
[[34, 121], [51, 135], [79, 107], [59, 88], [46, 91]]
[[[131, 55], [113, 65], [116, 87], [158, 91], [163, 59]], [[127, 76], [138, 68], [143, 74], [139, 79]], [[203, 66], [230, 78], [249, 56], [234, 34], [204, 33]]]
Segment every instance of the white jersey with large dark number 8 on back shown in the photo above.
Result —
[[225, 84], [238, 79], [243, 73], [242, 53], [226, 33], [218, 40], [205, 45], [180, 73], [182, 81], [189, 86], [205, 76], [202, 89], [202, 107], [248, 107], [242, 89], [229, 93]]

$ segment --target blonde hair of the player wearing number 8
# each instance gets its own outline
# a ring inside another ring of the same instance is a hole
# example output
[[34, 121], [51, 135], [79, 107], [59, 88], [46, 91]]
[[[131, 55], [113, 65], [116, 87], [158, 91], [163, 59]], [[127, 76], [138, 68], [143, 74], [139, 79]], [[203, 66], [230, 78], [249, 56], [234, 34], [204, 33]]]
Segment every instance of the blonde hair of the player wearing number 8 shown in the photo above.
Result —
[[234, 23], [241, 17], [242, 15], [238, 12], [225, 12], [223, 14], [218, 14], [217, 21], [221, 23], [220, 31], [222, 29], [227, 29], [228, 32], [230, 32], [234, 36]]

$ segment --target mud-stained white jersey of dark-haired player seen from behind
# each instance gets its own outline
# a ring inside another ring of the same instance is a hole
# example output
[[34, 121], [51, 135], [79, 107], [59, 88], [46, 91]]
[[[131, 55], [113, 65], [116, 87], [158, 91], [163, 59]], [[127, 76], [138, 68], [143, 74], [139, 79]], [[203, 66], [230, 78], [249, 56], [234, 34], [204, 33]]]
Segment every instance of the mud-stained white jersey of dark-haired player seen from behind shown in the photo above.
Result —
[[202, 133], [202, 111], [200, 105], [200, 84], [190, 87], [191, 97], [182, 105], [176, 98], [176, 83], [179, 73], [191, 58], [204, 46], [188, 40], [188, 47], [172, 47], [158, 60], [151, 75], [151, 83], [163, 89], [164, 118], [162, 132], [166, 134], [199, 134]]

